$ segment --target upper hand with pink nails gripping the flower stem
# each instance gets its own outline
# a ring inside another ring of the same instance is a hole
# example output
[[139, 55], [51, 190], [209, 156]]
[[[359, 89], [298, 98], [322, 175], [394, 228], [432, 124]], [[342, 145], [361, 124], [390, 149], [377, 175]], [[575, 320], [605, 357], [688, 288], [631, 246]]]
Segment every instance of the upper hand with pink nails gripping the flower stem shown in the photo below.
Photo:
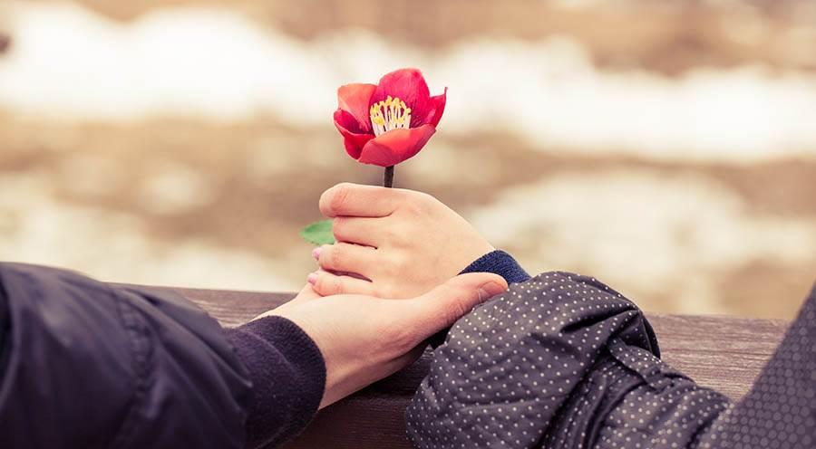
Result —
[[494, 250], [451, 208], [413, 190], [339, 184], [320, 197], [320, 211], [334, 218], [337, 241], [315, 250], [321, 270], [309, 282], [321, 295], [410, 298]]

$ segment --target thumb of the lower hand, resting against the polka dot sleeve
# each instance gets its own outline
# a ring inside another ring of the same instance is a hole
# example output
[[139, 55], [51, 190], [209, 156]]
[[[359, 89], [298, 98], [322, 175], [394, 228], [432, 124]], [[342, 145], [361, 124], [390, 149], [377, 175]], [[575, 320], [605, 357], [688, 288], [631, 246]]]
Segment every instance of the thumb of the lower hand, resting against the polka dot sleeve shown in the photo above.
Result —
[[416, 299], [422, 315], [423, 334], [449, 328], [474, 307], [507, 291], [507, 282], [498, 274], [471, 272], [460, 274]]

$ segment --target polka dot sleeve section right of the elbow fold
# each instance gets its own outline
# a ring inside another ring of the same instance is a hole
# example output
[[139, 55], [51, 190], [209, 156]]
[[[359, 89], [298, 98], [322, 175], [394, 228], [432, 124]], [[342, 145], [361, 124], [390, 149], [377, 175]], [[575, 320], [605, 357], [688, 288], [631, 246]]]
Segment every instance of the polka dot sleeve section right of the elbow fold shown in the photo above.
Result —
[[[729, 405], [728, 399], [633, 349], [622, 350], [627, 362], [616, 353], [597, 363], [560, 410], [544, 447], [695, 447], [700, 432]], [[627, 367], [631, 362], [644, 370], [633, 371]], [[653, 376], [644, 377], [646, 372]]]

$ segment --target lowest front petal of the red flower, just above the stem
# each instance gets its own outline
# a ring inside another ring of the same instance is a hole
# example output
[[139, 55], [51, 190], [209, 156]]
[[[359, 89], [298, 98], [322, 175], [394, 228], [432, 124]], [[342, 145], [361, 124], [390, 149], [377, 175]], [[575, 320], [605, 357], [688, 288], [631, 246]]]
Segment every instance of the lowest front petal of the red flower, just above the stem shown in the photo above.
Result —
[[369, 140], [357, 160], [380, 167], [395, 166], [419, 153], [434, 132], [436, 128], [432, 125], [412, 129], [392, 129]]

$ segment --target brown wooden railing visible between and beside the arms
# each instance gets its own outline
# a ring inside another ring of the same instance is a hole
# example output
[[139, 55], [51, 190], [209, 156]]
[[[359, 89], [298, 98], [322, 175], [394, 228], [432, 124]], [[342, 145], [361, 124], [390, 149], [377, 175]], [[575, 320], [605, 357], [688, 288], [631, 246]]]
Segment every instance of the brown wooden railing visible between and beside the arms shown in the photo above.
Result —
[[[195, 301], [225, 326], [237, 326], [294, 297], [294, 293], [170, 290]], [[782, 320], [646, 315], [666, 362], [733, 399], [748, 392], [788, 324]], [[426, 351], [413, 366], [326, 407], [287, 448], [411, 447], [405, 437], [403, 412], [430, 362], [430, 351]]]

